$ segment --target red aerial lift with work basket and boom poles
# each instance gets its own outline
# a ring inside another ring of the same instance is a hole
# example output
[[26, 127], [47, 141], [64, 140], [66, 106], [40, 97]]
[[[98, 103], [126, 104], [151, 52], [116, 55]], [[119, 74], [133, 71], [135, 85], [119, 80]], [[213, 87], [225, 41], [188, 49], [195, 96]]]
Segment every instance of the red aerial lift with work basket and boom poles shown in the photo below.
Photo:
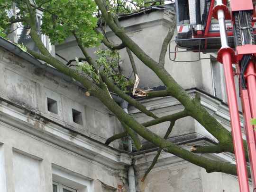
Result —
[[[239, 187], [241, 192], [249, 192], [232, 70], [232, 64], [237, 65], [240, 84], [237, 89], [241, 94], [253, 192], [256, 192], [256, 130], [250, 125], [250, 120], [256, 118], [256, 2], [255, 0], [243, 0], [242, 3], [241, 0], [230, 0], [229, 4], [227, 0], [195, 0], [195, 4], [192, 2], [194, 1], [176, 0], [177, 46], [195, 52], [212, 52], [220, 48], [217, 60], [224, 68]], [[214, 23], [212, 17], [217, 19], [218, 23]]]

